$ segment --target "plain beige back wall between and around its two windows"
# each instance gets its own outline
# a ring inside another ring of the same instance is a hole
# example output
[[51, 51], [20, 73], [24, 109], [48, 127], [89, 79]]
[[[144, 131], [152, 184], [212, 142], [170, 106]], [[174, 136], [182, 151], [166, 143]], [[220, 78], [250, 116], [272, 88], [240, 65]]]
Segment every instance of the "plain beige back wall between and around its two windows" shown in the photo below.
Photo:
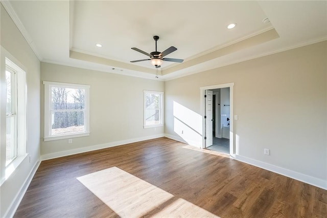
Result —
[[[164, 82], [41, 63], [41, 81], [90, 85], [90, 135], [41, 141], [41, 156], [53, 158], [90, 146], [140, 141], [164, 135], [164, 127], [143, 128], [144, 90], [164, 91]], [[41, 86], [41, 137], [44, 136], [44, 86]], [[73, 151], [72, 151], [73, 150]]]

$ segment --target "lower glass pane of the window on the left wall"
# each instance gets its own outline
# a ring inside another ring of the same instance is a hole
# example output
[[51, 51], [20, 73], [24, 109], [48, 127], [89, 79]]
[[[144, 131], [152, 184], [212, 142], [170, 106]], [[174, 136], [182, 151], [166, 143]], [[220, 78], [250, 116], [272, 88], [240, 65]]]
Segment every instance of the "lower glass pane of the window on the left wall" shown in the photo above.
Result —
[[6, 165], [17, 156], [16, 116], [6, 119]]

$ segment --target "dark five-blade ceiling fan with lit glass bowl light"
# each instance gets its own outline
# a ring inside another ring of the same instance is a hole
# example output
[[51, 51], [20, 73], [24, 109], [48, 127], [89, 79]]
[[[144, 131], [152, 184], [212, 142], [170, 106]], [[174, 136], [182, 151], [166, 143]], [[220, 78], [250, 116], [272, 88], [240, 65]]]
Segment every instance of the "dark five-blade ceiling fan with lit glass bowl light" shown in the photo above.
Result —
[[178, 62], [181, 63], [183, 62], [183, 59], [176, 59], [176, 58], [164, 58], [166, 55], [169, 55], [170, 53], [174, 52], [177, 50], [174, 46], [169, 47], [163, 52], [158, 52], [157, 51], [157, 41], [159, 39], [159, 36], [153, 36], [153, 39], [155, 40], [155, 52], [151, 52], [150, 54], [142, 51], [141, 49], [137, 48], [132, 48], [133, 50], [137, 52], [141, 52], [142, 54], [145, 54], [149, 56], [149, 59], [142, 59], [142, 60], [132, 60], [131, 62], [139, 62], [139, 61], [145, 61], [145, 60], [151, 60], [151, 64], [155, 66], [155, 68], [160, 68], [162, 61], [171, 61], [171, 62]]

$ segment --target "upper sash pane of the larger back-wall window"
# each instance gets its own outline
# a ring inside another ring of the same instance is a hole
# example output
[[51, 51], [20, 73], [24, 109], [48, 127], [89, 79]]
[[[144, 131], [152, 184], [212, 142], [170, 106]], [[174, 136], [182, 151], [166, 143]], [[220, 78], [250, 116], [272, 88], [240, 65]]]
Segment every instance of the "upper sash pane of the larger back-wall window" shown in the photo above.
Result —
[[84, 89], [52, 87], [52, 110], [84, 109]]

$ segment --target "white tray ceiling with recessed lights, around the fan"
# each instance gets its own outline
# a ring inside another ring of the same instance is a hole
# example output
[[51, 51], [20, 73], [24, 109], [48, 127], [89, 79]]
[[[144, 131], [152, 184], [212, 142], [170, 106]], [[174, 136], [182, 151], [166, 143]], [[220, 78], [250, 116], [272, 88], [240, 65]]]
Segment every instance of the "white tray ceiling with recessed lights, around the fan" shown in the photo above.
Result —
[[130, 63], [147, 58], [131, 48], [155, 51], [154, 35], [158, 51], [175, 46], [166, 57], [184, 59], [165, 61], [162, 80], [327, 40], [326, 1], [2, 3], [41, 61], [150, 79], [154, 67]]

